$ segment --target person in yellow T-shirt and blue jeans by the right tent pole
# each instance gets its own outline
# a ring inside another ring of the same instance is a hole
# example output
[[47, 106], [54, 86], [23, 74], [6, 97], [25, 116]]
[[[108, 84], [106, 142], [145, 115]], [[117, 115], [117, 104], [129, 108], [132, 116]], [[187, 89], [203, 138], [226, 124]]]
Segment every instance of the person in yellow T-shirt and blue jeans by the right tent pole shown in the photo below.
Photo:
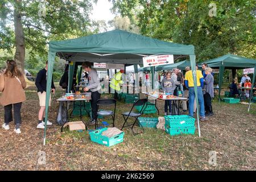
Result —
[[[197, 67], [198, 68], [198, 67]], [[197, 70], [196, 68], [196, 81], [197, 81], [197, 97], [200, 105], [200, 121], [207, 121], [208, 118], [205, 117], [205, 110], [204, 110], [204, 96], [203, 90], [204, 87], [204, 77], [202, 72]], [[185, 73], [184, 78], [185, 85], [188, 88], [188, 97], [189, 97], [189, 115], [193, 117], [193, 110], [194, 110], [194, 102], [195, 102], [195, 88], [194, 88], [194, 81], [193, 81], [193, 73], [192, 71], [188, 71]]]

